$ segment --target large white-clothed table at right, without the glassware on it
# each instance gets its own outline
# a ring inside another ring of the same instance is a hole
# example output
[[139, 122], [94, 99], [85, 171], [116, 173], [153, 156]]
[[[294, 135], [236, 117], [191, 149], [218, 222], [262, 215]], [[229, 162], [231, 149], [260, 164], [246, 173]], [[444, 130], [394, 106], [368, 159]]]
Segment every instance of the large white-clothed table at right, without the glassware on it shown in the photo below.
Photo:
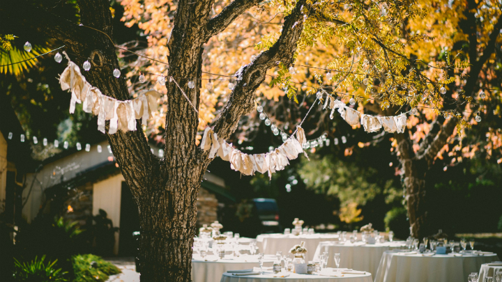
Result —
[[434, 255], [386, 251], [380, 260], [374, 282], [461, 282], [478, 272], [483, 263], [498, 260], [496, 254], [478, 256]]

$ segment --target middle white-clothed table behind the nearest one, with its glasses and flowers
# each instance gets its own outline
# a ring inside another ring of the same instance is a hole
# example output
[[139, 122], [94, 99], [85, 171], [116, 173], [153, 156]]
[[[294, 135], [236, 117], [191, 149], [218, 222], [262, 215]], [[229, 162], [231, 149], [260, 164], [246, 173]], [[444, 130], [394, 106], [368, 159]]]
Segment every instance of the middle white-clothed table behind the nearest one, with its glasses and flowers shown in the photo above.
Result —
[[[375, 274], [380, 264], [380, 259], [385, 251], [393, 249], [402, 249], [406, 247], [403, 241], [393, 241], [393, 233], [389, 233], [389, 239], [386, 241], [383, 235], [376, 230], [372, 230], [371, 224], [361, 230], [362, 234], [351, 234], [351, 240], [345, 235], [341, 235], [339, 240], [333, 242], [320, 242], [314, 253], [315, 259], [321, 259], [324, 256], [333, 257], [335, 253], [340, 253], [344, 258], [341, 267], [359, 269]], [[361, 238], [360, 241], [358, 238]], [[372, 238], [372, 239], [370, 239]], [[328, 267], [335, 267], [335, 261], [330, 260]]]

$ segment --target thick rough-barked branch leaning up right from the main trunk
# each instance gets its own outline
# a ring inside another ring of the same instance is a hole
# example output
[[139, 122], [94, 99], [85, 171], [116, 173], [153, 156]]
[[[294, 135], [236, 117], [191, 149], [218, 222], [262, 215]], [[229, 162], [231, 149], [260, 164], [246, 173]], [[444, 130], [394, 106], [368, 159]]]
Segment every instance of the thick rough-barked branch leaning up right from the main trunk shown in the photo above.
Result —
[[284, 18], [282, 34], [275, 44], [262, 52], [252, 63], [238, 71], [242, 79], [230, 95], [229, 102], [215, 123], [215, 132], [220, 139], [227, 139], [234, 132], [238, 120], [254, 108], [254, 91], [265, 80], [266, 71], [277, 65], [291, 65], [296, 52], [296, 42], [303, 31], [302, 7], [306, 0], [300, 0], [290, 15]]

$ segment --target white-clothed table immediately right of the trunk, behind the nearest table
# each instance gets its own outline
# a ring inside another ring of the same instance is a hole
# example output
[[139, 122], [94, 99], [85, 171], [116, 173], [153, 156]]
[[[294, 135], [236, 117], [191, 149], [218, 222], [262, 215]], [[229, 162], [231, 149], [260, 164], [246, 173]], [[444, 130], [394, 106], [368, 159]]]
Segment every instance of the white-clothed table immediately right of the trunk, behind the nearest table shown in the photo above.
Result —
[[[264, 267], [271, 267], [272, 265], [272, 257], [266, 257]], [[257, 255], [240, 256], [238, 258], [225, 256], [224, 259], [218, 259], [216, 256], [206, 256], [204, 259], [194, 255], [192, 258], [192, 281], [218, 282], [222, 274], [227, 270], [252, 269], [253, 267], [259, 267]]]

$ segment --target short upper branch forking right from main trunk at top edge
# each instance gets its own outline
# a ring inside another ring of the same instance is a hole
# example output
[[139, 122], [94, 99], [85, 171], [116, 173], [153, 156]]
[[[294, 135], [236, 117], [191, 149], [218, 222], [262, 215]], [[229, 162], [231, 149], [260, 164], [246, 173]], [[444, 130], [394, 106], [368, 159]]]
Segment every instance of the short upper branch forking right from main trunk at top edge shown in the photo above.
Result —
[[224, 31], [231, 22], [242, 15], [245, 10], [259, 3], [260, 0], [234, 0], [227, 7], [223, 8], [220, 14], [216, 15], [206, 24], [206, 40]]

